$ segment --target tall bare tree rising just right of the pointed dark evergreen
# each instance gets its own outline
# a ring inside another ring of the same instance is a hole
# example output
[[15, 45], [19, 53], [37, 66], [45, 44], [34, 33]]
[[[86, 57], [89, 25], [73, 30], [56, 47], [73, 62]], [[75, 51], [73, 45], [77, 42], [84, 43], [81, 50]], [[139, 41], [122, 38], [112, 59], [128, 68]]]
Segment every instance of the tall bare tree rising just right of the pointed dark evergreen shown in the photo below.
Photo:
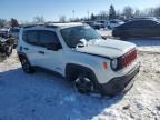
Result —
[[126, 7], [123, 9], [123, 16], [128, 19], [128, 18], [132, 18], [133, 17], [133, 9], [131, 7]]

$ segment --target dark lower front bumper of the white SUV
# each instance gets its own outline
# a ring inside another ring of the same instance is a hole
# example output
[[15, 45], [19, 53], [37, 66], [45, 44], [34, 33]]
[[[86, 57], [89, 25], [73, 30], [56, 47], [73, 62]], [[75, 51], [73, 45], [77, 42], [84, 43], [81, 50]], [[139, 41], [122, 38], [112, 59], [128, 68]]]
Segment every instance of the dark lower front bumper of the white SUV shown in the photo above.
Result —
[[139, 72], [140, 63], [128, 74], [111, 79], [108, 83], [100, 84], [103, 94], [116, 96], [121, 91], [128, 91], [133, 86], [133, 77]]

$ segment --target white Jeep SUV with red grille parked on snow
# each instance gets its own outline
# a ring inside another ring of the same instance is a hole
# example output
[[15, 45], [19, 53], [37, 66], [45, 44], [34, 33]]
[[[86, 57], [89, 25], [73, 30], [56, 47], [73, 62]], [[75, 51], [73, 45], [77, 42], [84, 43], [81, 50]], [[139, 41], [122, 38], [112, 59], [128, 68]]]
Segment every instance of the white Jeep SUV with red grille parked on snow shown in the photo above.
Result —
[[136, 44], [102, 39], [83, 23], [23, 27], [18, 56], [24, 72], [32, 73], [34, 67], [56, 71], [81, 93], [114, 96], [128, 90], [140, 67]]

